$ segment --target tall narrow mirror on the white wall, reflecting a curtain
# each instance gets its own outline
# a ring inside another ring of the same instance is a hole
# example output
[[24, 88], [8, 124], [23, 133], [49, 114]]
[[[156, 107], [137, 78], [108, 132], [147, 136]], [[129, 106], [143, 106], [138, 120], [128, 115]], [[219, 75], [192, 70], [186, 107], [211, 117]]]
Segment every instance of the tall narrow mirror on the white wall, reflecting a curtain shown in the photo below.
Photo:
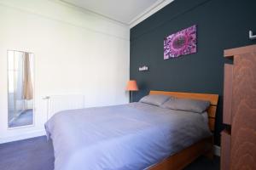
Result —
[[8, 127], [33, 124], [33, 55], [8, 51]]

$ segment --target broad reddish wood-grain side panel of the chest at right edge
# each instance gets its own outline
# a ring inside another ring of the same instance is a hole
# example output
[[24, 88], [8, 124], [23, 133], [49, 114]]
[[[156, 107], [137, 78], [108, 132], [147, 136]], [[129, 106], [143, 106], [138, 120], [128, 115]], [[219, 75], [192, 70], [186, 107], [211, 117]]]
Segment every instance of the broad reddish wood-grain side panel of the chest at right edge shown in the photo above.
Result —
[[256, 169], [256, 52], [234, 56], [231, 169]]

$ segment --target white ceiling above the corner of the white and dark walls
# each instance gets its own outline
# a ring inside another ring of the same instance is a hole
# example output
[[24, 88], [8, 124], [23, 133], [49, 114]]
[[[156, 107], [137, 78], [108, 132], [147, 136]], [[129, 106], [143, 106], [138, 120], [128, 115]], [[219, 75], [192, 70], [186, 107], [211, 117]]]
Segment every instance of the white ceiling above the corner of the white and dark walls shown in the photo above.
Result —
[[[100, 14], [110, 20], [131, 25], [161, 3], [171, 3], [172, 0], [61, 0], [73, 6], [84, 8], [95, 14]], [[163, 6], [163, 5], [161, 5]], [[161, 7], [162, 8], [162, 7]], [[159, 9], [158, 9], [159, 10]]]

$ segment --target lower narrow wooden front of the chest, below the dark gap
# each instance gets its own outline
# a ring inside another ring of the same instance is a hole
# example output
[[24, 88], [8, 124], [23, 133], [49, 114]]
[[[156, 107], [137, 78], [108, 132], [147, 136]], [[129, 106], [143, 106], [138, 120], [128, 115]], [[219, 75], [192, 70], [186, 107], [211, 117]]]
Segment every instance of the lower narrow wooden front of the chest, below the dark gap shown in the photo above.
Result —
[[221, 170], [230, 170], [230, 148], [231, 148], [231, 136], [227, 130], [221, 133]]

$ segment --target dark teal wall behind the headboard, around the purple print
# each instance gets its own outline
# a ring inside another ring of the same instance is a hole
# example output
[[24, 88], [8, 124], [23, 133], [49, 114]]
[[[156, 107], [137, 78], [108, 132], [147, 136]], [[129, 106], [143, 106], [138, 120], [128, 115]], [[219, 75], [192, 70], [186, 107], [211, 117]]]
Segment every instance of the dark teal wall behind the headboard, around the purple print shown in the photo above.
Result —
[[[149, 90], [219, 94], [215, 144], [222, 125], [224, 59], [226, 48], [253, 44], [256, 32], [255, 0], [175, 0], [131, 29], [131, 79], [141, 99]], [[197, 53], [163, 59], [164, 37], [197, 25]], [[148, 65], [149, 71], [138, 67]]]

